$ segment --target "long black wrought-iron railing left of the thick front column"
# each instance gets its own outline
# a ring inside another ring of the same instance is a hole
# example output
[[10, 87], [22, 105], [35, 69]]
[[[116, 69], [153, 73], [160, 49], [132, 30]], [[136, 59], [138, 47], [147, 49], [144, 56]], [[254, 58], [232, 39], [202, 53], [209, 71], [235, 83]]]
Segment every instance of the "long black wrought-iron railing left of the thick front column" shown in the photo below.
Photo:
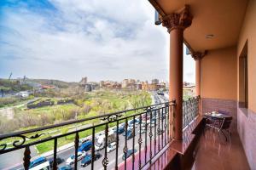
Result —
[[[80, 136], [83, 136], [84, 132], [90, 133], [91, 145], [90, 150], [86, 150], [86, 153], [90, 153], [92, 158], [96, 158], [96, 142], [98, 142], [97, 140], [99, 139], [98, 133], [102, 132], [102, 135], [104, 136], [102, 137], [104, 141], [102, 144], [104, 144], [104, 147], [102, 147], [102, 150], [100, 150], [99, 153], [102, 155], [101, 163], [104, 169], [118, 169], [119, 164], [123, 162], [120, 160], [120, 156], [125, 157], [125, 169], [127, 167], [128, 156], [131, 156], [129, 161], [132, 162], [130, 165], [132, 169], [135, 167], [135, 164], [137, 164], [138, 168], [141, 169], [148, 163], [151, 163], [154, 156], [156, 156], [160, 150], [171, 141], [171, 135], [169, 135], [171, 133], [169, 113], [174, 111], [174, 109], [172, 109], [174, 106], [175, 101], [171, 101], [158, 105], [149, 105], [137, 109], [105, 114], [102, 116], [94, 116], [82, 120], [63, 122], [46, 127], [38, 127], [22, 132], [3, 134], [0, 135], [0, 155], [11, 151], [25, 149], [23, 164], [20, 165], [20, 167], [29, 169], [32, 161], [31, 147], [52, 141], [53, 155], [49, 157], [53, 158], [52, 168], [57, 169], [58, 141], [66, 138], [67, 136], [72, 136], [74, 141], [74, 144], [71, 146], [72, 149], [74, 149], [73, 168], [79, 169], [78, 150], [81, 145], [83, 145], [81, 144], [81, 140], [79, 140]], [[78, 123], [83, 122], [86, 123], [92, 120], [97, 120], [98, 123], [92, 124], [89, 127], [82, 126], [70, 132], [67, 131], [67, 133], [49, 135], [49, 130], [54, 131], [58, 128], [77, 125]], [[113, 128], [115, 128], [115, 130]], [[116, 142], [116, 149], [115, 152], [113, 152], [115, 153], [113, 165], [109, 164], [110, 160], [107, 152], [108, 144], [110, 143], [110, 130], [115, 132], [114, 135], [111, 133], [111, 138]], [[120, 134], [123, 133], [123, 131], [125, 131], [124, 137]], [[131, 142], [128, 142], [129, 139], [132, 139], [132, 144]], [[128, 150], [133, 150], [132, 154], [128, 153]], [[136, 150], [138, 150], [137, 153], [134, 153]], [[135, 155], [137, 155], [137, 157], [135, 157]], [[91, 169], [95, 168], [95, 161], [95, 159], [90, 160]], [[100, 161], [97, 161], [97, 165], [98, 162]]]

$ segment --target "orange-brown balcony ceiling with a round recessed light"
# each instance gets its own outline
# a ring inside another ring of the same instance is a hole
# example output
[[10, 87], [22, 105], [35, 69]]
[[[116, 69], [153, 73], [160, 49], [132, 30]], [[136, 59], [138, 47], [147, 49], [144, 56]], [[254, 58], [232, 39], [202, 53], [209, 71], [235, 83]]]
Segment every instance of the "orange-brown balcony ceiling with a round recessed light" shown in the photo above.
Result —
[[[192, 25], [184, 39], [194, 51], [236, 45], [247, 0], [149, 0], [160, 14], [172, 14], [189, 4]], [[162, 13], [161, 11], [162, 10]], [[206, 38], [212, 34], [212, 38]]]

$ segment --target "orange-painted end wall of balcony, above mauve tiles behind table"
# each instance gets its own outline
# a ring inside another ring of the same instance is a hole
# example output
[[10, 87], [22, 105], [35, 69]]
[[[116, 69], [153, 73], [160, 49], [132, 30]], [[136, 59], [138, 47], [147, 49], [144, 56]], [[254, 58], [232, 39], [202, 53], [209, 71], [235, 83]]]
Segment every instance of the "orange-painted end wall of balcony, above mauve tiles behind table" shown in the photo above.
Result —
[[236, 100], [236, 47], [208, 51], [201, 59], [201, 97]]

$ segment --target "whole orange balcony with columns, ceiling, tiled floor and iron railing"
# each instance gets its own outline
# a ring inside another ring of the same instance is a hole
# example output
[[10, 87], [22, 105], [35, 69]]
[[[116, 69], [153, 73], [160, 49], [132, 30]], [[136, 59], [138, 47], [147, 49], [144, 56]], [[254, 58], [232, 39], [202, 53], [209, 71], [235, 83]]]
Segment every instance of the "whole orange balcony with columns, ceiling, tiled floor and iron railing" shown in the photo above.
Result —
[[[73, 168], [79, 169], [78, 150], [83, 141], [88, 141], [80, 139], [85, 132], [91, 141], [86, 153], [99, 158], [89, 159], [88, 169], [256, 169], [255, 1], [149, 2], [160, 14], [157, 20], [170, 33], [170, 101], [4, 134], [0, 136], [0, 154], [9, 158], [9, 153], [24, 151], [23, 167], [29, 169], [35, 159], [31, 156], [32, 145], [52, 141], [50, 157], [53, 169], [57, 169], [57, 156], [62, 153], [58, 140], [71, 136]], [[201, 96], [188, 101], [183, 101], [182, 91], [183, 43], [195, 59], [196, 94]], [[230, 140], [206, 128], [204, 115], [212, 111], [232, 116]], [[93, 119], [101, 123], [44, 138], [49, 129]], [[114, 127], [118, 133], [112, 135]], [[127, 132], [125, 136], [119, 134], [120, 128]], [[103, 144], [100, 156], [96, 152], [99, 135]], [[114, 141], [116, 149], [108, 153], [108, 144]]]

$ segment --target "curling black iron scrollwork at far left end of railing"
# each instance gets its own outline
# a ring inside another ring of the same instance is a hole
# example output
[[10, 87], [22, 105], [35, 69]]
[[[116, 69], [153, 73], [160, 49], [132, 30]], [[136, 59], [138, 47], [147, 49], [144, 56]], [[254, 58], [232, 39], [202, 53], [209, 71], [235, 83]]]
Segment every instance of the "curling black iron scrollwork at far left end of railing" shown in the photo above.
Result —
[[[20, 148], [20, 146], [22, 146], [23, 144], [26, 143], [27, 139], [38, 139], [39, 137], [41, 137], [44, 134], [45, 133], [40, 133], [40, 134], [36, 133], [32, 136], [26, 136], [24, 134], [18, 134], [18, 135], [15, 135], [15, 136], [4, 138], [4, 139], [15, 139], [15, 141], [11, 142], [9, 145], [12, 145], [14, 148]], [[0, 139], [0, 142], [3, 141], [4, 139]], [[0, 144], [0, 153], [3, 150], [6, 150], [7, 146], [8, 146], [8, 144]]]

